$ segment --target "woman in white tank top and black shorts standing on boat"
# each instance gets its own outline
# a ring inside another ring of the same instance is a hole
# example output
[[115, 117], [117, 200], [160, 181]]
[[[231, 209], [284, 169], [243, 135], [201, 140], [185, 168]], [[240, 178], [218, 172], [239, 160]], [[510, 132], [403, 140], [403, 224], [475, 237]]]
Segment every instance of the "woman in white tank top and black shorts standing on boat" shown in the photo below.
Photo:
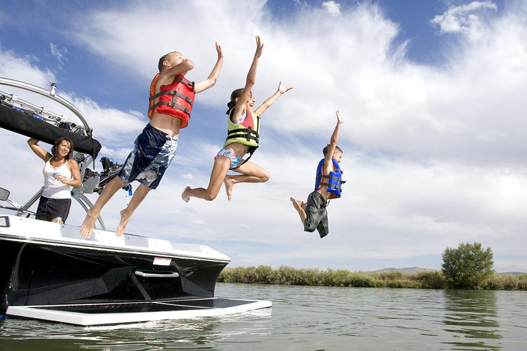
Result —
[[64, 223], [71, 207], [70, 186], [80, 186], [80, 171], [77, 161], [72, 160], [73, 143], [68, 138], [58, 138], [51, 153], [38, 145], [38, 140], [27, 141], [36, 156], [45, 162], [44, 191], [40, 196], [36, 219]]

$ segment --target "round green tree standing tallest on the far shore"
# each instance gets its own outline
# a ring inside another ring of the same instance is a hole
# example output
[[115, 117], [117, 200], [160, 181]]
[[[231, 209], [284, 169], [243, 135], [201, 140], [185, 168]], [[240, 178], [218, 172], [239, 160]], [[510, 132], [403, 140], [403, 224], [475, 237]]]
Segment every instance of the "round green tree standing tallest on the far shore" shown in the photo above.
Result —
[[441, 270], [451, 287], [477, 289], [494, 274], [493, 265], [490, 247], [483, 250], [481, 243], [460, 243], [457, 249], [445, 249]]

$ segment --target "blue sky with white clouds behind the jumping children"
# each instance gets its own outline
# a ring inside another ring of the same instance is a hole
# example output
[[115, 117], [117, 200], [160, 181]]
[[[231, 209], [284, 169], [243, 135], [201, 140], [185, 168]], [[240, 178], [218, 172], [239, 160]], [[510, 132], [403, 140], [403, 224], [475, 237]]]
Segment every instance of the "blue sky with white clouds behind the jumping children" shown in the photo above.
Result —
[[[222, 190], [185, 203], [185, 186], [209, 182], [256, 35], [257, 105], [279, 82], [294, 87], [264, 114], [251, 158], [270, 180], [235, 185], [230, 202]], [[159, 58], [180, 51], [195, 64], [187, 78], [204, 80], [218, 42], [220, 78], [196, 96], [174, 162], [126, 232], [207, 245], [230, 267], [350, 271], [441, 269], [445, 248], [479, 242], [496, 271], [526, 272], [526, 38], [522, 0], [3, 0], [0, 77], [55, 82], [89, 119], [99, 158], [122, 163], [148, 123]], [[347, 183], [320, 239], [303, 232], [290, 197], [312, 191], [336, 110]], [[42, 165], [26, 137], [0, 138], [0, 186], [23, 204], [40, 189]], [[104, 207], [108, 229], [126, 201], [121, 191]], [[68, 223], [83, 218], [73, 204]]]

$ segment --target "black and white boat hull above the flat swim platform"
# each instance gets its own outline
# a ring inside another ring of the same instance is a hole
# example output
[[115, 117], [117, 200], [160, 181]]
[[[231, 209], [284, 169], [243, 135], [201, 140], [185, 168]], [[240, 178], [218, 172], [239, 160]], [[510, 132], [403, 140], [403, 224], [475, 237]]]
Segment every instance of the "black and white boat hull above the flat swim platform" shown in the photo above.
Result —
[[[0, 314], [9, 306], [213, 298], [215, 282], [229, 263], [221, 254], [207, 257], [200, 245], [187, 245], [191, 250], [178, 251], [168, 242], [130, 234], [116, 245], [115, 232], [97, 231], [92, 240], [86, 240], [80, 234], [75, 238], [78, 227], [3, 218], [9, 223], [0, 227], [4, 252]], [[28, 226], [37, 226], [42, 232], [28, 236], [17, 230], [27, 230]], [[127, 241], [134, 245], [127, 245]], [[143, 243], [142, 247], [137, 243]]]

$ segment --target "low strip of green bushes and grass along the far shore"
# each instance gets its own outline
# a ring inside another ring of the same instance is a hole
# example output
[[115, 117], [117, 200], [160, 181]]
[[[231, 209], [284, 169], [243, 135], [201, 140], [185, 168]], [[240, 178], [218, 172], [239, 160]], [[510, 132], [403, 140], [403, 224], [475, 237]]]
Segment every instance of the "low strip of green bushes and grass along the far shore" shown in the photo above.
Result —
[[[309, 285], [324, 287], [389, 287], [413, 289], [447, 289], [441, 271], [404, 274], [401, 271], [364, 272], [346, 269], [297, 269], [281, 266], [235, 267], [223, 269], [218, 282], [243, 282], [274, 285]], [[519, 276], [494, 274], [480, 289], [527, 290], [527, 274]]]

